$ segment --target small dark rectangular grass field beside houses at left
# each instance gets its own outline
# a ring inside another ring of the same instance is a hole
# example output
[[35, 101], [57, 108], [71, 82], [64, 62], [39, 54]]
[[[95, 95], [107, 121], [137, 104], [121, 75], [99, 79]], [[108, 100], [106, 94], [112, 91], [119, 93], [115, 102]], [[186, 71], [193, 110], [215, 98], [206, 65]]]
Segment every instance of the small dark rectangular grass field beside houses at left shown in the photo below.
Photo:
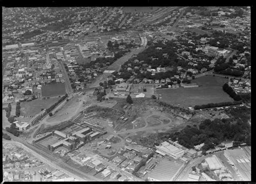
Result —
[[65, 83], [55, 83], [55, 84], [47, 84], [42, 86], [42, 96], [50, 97], [50, 96], [58, 96], [65, 95]]

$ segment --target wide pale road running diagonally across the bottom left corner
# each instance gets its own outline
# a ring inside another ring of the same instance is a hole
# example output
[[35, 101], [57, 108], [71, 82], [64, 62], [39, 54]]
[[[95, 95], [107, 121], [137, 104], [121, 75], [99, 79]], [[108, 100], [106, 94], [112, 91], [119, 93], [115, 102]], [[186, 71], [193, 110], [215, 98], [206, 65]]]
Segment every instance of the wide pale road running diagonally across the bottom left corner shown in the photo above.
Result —
[[24, 148], [26, 148], [26, 150], [30, 151], [31, 153], [33, 153], [33, 155], [37, 155], [37, 157], [40, 157], [44, 162], [46, 162], [46, 164], [50, 164], [50, 165], [54, 165], [56, 168], [59, 168], [60, 170], [63, 170], [64, 172], [68, 173], [69, 175], [75, 175], [77, 179], [80, 179], [81, 181], [102, 181], [98, 178], [95, 178], [94, 176], [91, 176], [87, 173], [84, 173], [82, 171], [80, 171], [79, 169], [76, 169], [74, 167], [71, 167], [70, 165], [66, 164], [65, 162], [63, 162], [60, 159], [57, 159], [55, 157], [53, 157], [52, 155], [39, 150], [37, 147], [24, 142], [24, 140], [19, 139], [17, 137], [15, 137], [14, 135], [12, 135], [11, 133], [2, 130], [4, 133], [7, 133], [12, 140], [17, 141], [18, 143], [21, 143], [24, 145]]

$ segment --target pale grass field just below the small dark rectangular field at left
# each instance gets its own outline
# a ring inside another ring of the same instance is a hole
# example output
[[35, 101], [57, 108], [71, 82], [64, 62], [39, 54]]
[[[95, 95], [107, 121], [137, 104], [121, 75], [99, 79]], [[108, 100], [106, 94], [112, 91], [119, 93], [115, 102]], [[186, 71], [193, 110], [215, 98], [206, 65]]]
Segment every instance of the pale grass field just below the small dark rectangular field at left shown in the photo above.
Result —
[[49, 98], [45, 100], [33, 100], [30, 102], [21, 102], [21, 116], [35, 116], [41, 109], [51, 107], [52, 104], [56, 103], [58, 98]]

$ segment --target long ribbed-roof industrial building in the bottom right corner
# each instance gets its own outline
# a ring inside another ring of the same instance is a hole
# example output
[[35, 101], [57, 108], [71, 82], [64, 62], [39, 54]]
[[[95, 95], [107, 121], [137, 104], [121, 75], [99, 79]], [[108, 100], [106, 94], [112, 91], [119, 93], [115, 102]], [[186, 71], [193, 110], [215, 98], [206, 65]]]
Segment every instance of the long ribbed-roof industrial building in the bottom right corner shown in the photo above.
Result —
[[237, 168], [237, 172], [243, 181], [251, 181], [251, 147], [225, 150], [224, 155], [231, 165]]

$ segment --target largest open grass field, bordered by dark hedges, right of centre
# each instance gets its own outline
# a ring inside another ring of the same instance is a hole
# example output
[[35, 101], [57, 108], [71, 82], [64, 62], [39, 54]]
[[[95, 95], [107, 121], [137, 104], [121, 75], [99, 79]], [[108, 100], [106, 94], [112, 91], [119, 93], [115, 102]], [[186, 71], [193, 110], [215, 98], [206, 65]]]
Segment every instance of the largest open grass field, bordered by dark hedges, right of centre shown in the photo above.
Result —
[[198, 88], [158, 89], [157, 93], [160, 94], [160, 101], [179, 104], [184, 108], [233, 101], [222, 89], [225, 81], [223, 77], [203, 76], [192, 81], [199, 84]]

